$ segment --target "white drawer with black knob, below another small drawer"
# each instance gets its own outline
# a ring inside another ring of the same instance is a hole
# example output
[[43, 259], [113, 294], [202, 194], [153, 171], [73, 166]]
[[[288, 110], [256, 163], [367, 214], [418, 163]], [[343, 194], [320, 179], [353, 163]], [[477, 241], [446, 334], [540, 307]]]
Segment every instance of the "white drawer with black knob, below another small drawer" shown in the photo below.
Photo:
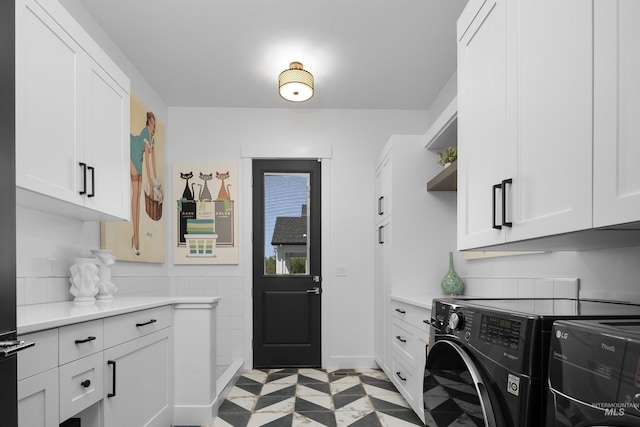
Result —
[[60, 422], [102, 399], [103, 372], [102, 352], [60, 366]]

